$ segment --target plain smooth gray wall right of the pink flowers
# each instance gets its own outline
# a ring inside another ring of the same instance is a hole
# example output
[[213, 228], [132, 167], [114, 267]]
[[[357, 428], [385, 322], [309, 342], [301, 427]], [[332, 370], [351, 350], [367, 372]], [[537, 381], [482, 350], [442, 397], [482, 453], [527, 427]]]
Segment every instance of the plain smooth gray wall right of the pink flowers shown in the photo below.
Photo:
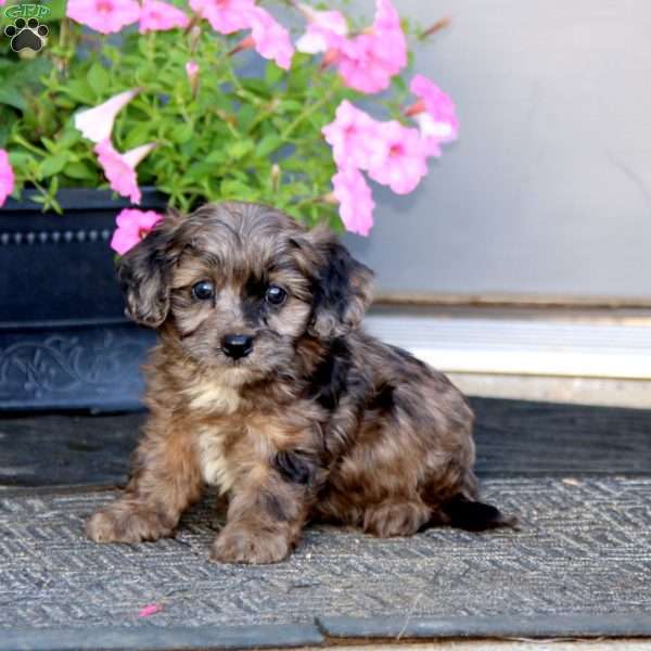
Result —
[[[460, 140], [347, 243], [381, 293], [651, 299], [651, 0], [395, 0]], [[368, 2], [357, 2], [368, 8]]]

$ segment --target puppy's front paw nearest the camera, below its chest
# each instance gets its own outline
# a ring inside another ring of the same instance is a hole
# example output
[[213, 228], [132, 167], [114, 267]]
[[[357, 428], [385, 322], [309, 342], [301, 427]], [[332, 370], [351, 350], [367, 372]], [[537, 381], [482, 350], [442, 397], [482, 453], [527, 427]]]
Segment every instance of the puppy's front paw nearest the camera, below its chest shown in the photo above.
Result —
[[278, 563], [291, 551], [286, 534], [227, 524], [213, 542], [210, 560], [219, 563]]

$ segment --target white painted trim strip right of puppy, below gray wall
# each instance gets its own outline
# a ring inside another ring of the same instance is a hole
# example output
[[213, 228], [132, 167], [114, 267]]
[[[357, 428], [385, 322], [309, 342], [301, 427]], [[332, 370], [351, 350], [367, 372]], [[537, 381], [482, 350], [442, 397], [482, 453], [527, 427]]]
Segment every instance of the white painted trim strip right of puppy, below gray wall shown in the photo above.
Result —
[[369, 315], [367, 330], [444, 371], [651, 379], [651, 327]]

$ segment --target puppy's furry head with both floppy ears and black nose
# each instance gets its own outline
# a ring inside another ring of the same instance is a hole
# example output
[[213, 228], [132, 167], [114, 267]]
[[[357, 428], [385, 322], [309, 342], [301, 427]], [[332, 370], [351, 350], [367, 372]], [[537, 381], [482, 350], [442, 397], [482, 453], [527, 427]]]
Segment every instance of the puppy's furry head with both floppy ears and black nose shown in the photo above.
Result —
[[168, 215], [122, 260], [127, 311], [243, 382], [291, 367], [305, 336], [357, 328], [371, 271], [327, 230], [244, 203]]

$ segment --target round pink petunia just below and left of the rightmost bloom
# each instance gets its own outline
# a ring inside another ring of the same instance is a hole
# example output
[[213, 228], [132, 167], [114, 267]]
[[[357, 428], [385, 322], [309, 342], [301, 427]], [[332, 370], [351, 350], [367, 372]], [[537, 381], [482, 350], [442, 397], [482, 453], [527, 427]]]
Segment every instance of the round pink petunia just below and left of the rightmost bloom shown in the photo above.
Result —
[[427, 145], [418, 129], [403, 126], [393, 119], [382, 123], [380, 138], [386, 155], [369, 168], [369, 176], [396, 194], [408, 194], [427, 174]]

